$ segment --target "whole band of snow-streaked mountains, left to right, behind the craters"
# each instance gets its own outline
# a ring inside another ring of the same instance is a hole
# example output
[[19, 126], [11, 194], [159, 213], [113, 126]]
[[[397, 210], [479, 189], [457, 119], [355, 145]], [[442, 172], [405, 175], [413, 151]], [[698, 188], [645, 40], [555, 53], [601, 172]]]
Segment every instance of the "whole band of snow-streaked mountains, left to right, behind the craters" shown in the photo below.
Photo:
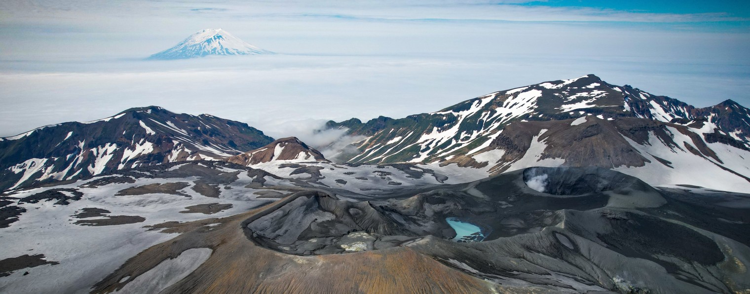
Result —
[[[123, 121], [129, 121], [127, 127], [120, 126]], [[649, 184], [718, 189], [730, 183], [725, 190], [742, 190], [750, 189], [747, 121], [748, 109], [731, 100], [695, 108], [586, 75], [493, 92], [435, 113], [366, 122], [351, 118], [329, 121], [326, 127], [365, 138], [333, 158], [355, 165], [417, 163], [486, 176], [530, 166], [593, 164], [647, 176]], [[0, 138], [0, 188], [175, 160], [264, 163], [273, 170], [297, 161], [328, 162], [294, 137], [272, 141], [239, 121], [135, 107], [95, 121], [52, 124]], [[277, 150], [281, 142], [292, 148]], [[571, 146], [575, 150], [568, 150]], [[718, 178], [701, 176], [702, 171]]]

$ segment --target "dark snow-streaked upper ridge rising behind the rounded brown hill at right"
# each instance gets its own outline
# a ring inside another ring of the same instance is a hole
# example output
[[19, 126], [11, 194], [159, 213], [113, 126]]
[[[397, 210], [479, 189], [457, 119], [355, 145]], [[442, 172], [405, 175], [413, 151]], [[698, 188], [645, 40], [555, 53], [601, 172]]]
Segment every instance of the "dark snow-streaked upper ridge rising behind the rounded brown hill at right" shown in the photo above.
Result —
[[[559, 91], [550, 91], [557, 89]], [[717, 107], [692, 107], [682, 101], [666, 96], [651, 95], [631, 86], [614, 86], [593, 74], [589, 74], [571, 80], [550, 81], [493, 92], [454, 104], [434, 113], [408, 115], [405, 118], [380, 116], [366, 122], [357, 118], [341, 122], [328, 121], [325, 127], [328, 129], [346, 127], [347, 133], [351, 135], [371, 137], [364, 141], [368, 145], [358, 146], [361, 149], [364, 148], [359, 157], [342, 159], [352, 163], [430, 161], [435, 157], [440, 157], [438, 156], [440, 154], [435, 154], [437, 151], [434, 150], [450, 151], [451, 148], [460, 148], [458, 145], [464, 145], [464, 148], [460, 149], [466, 150], [466, 145], [478, 146], [481, 145], [481, 142], [488, 142], [490, 135], [493, 135], [496, 130], [501, 129], [508, 123], [523, 120], [562, 120], [580, 118], [586, 115], [597, 115], [600, 118], [607, 119], [619, 117], [648, 118], [664, 122], [671, 122], [676, 118], [692, 121], [707, 115], [722, 130], [733, 134], [734, 139], [748, 145], [750, 143], [750, 115], [747, 115], [747, 113], [750, 110], [736, 103], [732, 105], [738, 107], [738, 111], [730, 113], [736, 117], [724, 118], [719, 115]], [[428, 121], [428, 123], [425, 124], [425, 121]], [[688, 121], [685, 121], [685, 123]], [[455, 127], [457, 122], [463, 125], [460, 125], [457, 130], [451, 133], [452, 136], [445, 135], [443, 140], [439, 140], [441, 144], [445, 145], [419, 144], [419, 148], [416, 148], [416, 145], [407, 146], [415, 142], [425, 142], [425, 140], [432, 139], [430, 136], [420, 139], [419, 136], [416, 136], [417, 134], [433, 133], [437, 136], [437, 133], [443, 132], [446, 127]], [[434, 130], [432, 130], [433, 127], [435, 127]], [[383, 133], [378, 133], [383, 130], [389, 130], [389, 134], [383, 136]], [[414, 132], [410, 133], [407, 130], [414, 130]], [[475, 133], [469, 140], [462, 140], [463, 135], [460, 131], [478, 133]], [[387, 148], [374, 150], [374, 148], [382, 147], [383, 143], [391, 142], [399, 136], [402, 137], [403, 142], [399, 142], [398, 145], [402, 148], [410, 148], [404, 154], [387, 156], [386, 150], [389, 150]], [[454, 142], [449, 142], [449, 139], [453, 139]], [[425, 150], [432, 151], [432, 153], [424, 154]], [[365, 152], [371, 152], [371, 154], [363, 154]], [[421, 155], [415, 156], [416, 154]], [[443, 156], [447, 155], [443, 154]]]

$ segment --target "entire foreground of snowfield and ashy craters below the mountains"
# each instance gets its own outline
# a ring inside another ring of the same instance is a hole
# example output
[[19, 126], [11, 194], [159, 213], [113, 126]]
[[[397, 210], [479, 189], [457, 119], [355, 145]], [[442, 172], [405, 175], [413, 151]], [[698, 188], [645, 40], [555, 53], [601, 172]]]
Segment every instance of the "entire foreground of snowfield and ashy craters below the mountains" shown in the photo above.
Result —
[[409, 164], [276, 166], [163, 163], [0, 194], [0, 292], [750, 287], [748, 194], [596, 167], [459, 184]]

